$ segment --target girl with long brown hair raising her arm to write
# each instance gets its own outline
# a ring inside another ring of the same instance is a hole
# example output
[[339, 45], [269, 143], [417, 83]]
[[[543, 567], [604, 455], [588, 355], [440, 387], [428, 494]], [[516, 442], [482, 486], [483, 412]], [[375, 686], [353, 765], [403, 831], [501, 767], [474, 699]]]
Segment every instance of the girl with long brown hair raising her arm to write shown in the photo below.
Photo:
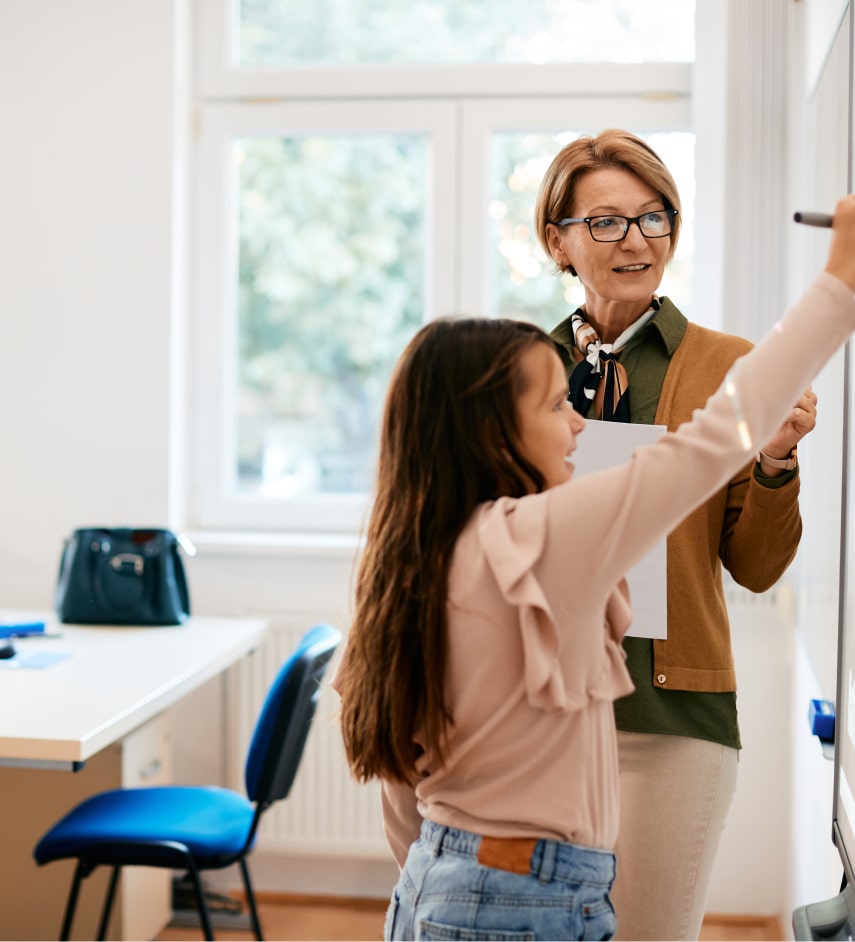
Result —
[[386, 938], [612, 936], [623, 575], [774, 437], [855, 330], [853, 291], [848, 197], [826, 272], [707, 406], [578, 481], [584, 420], [539, 328], [440, 320], [408, 345], [333, 683], [403, 868]]

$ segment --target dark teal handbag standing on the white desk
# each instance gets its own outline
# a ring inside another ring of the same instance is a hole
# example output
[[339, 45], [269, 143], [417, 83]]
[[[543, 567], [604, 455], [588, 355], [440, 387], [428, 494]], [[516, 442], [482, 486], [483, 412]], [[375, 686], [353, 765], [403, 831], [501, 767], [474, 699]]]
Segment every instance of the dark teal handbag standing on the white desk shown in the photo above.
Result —
[[178, 625], [190, 616], [181, 550], [171, 530], [83, 527], [65, 541], [56, 586], [61, 622], [82, 625]]

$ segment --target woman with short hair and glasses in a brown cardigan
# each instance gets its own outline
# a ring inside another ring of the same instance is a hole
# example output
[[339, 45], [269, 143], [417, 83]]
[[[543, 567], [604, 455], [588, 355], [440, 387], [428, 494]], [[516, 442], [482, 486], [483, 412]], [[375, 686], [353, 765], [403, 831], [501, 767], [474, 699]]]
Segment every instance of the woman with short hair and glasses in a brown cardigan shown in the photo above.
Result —
[[[680, 197], [658, 155], [627, 131], [578, 138], [546, 172], [535, 226], [557, 270], [585, 291], [552, 331], [576, 409], [669, 429], [689, 421], [751, 345], [691, 323], [657, 294], [680, 234]], [[667, 639], [624, 641], [636, 690], [614, 705], [618, 938], [700, 933], [741, 748], [722, 565], [762, 592], [792, 561], [796, 446], [815, 423], [808, 390], [756, 460], [668, 537]]]

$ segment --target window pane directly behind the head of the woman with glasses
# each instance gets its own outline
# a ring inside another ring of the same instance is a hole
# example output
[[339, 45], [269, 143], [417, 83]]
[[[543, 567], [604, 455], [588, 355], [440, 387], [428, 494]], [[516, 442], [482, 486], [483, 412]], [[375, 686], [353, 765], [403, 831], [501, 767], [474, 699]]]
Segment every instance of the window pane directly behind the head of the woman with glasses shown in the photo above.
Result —
[[[580, 132], [494, 133], [491, 140], [492, 309], [501, 317], [534, 321], [547, 330], [584, 301], [577, 278], [553, 274], [534, 233], [537, 190], [552, 158]], [[665, 271], [660, 293], [687, 316], [692, 312], [694, 255], [694, 143], [689, 132], [641, 135], [659, 154], [677, 182], [682, 229], [677, 252]]]

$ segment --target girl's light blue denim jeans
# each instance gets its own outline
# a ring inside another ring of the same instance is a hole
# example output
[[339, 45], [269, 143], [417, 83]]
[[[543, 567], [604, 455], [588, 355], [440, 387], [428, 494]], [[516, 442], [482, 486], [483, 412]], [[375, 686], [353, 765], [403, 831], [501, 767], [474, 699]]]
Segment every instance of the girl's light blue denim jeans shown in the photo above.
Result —
[[526, 851], [529, 872], [511, 872], [478, 862], [481, 840], [422, 823], [392, 894], [385, 939], [612, 938], [614, 854], [541, 839], [531, 842], [530, 860]]

